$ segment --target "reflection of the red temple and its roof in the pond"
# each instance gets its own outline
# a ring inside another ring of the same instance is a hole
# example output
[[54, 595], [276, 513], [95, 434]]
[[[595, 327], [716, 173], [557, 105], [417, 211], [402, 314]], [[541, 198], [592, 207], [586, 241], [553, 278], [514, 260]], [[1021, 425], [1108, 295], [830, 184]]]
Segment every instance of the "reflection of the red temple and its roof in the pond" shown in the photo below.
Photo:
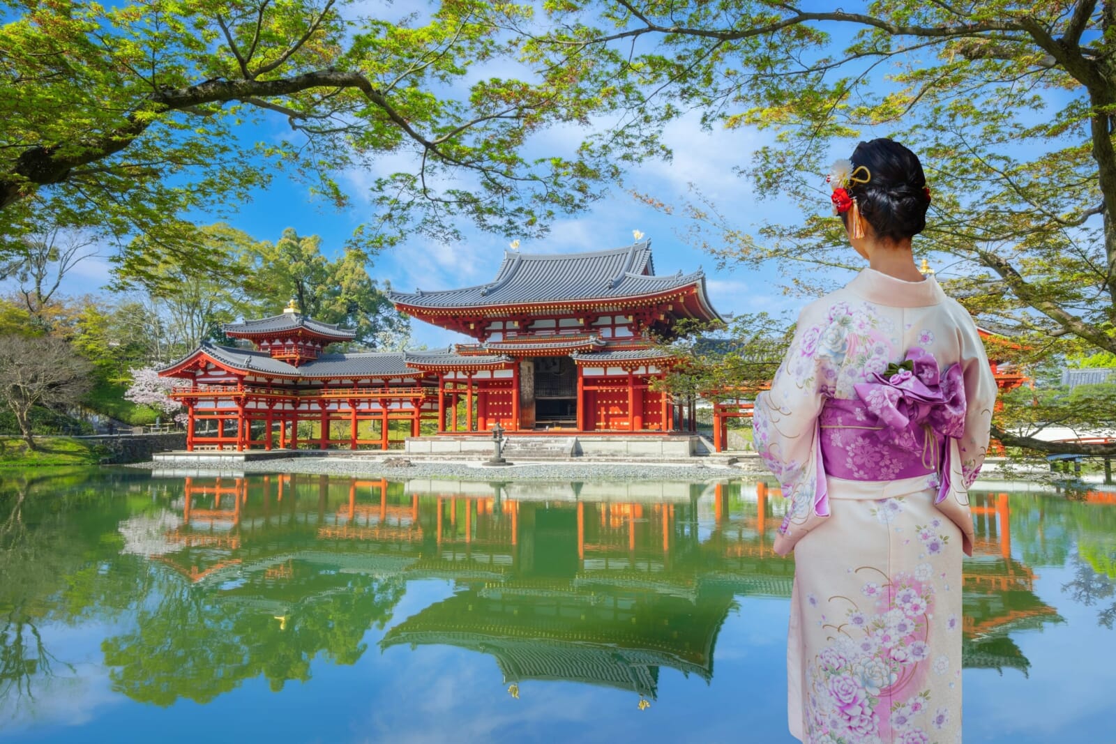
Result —
[[[763, 483], [276, 475], [187, 477], [181, 494], [154, 522], [122, 523], [126, 552], [172, 568], [218, 605], [266, 617], [269, 632], [320, 624], [309, 616], [336, 612], [329, 602], [377, 582], [374, 609], [348, 617], [354, 648], [331, 655], [359, 656], [363, 631], [391, 619], [382, 649], [489, 655], [513, 695], [541, 679], [654, 699], [664, 667], [708, 682], [737, 598], [789, 597], [793, 576], [792, 561], [771, 552], [783, 502]], [[1036, 596], [1033, 571], [1011, 557], [1007, 494], [973, 500], [965, 666], [1026, 674], [1008, 632], [1061, 619]], [[453, 593], [392, 617], [406, 586], [424, 579], [451, 581]]]

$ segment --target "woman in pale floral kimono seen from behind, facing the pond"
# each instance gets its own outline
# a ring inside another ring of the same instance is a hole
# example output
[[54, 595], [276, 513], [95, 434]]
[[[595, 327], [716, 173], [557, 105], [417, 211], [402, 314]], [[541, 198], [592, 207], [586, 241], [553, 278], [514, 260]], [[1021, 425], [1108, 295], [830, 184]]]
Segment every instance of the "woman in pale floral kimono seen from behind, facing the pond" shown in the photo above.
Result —
[[829, 175], [868, 262], [809, 305], [754, 437], [790, 499], [790, 732], [810, 744], [961, 741], [961, 555], [995, 380], [969, 312], [915, 268], [918, 158], [860, 143]]

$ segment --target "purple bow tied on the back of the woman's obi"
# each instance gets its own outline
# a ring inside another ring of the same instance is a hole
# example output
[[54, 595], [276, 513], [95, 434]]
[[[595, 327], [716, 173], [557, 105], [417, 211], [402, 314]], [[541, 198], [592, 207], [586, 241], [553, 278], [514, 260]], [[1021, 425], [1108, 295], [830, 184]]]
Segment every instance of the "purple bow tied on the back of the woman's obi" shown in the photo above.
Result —
[[914, 347], [898, 364], [873, 373], [873, 383], [854, 386], [868, 413], [876, 416], [881, 441], [922, 457], [927, 468], [941, 473], [936, 502], [950, 487], [951, 450], [949, 439], [961, 438], [965, 424], [965, 386], [961, 365], [944, 373], [933, 355]]

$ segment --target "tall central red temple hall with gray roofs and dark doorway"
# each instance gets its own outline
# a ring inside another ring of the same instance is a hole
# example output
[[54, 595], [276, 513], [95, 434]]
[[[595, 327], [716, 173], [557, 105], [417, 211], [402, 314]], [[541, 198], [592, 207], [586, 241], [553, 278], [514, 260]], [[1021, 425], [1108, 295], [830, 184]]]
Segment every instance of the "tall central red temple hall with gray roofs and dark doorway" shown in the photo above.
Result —
[[464, 397], [465, 421], [451, 416], [443, 432], [497, 423], [511, 432], [672, 432], [674, 404], [651, 387], [672, 359], [651, 336], [668, 337], [683, 318], [719, 319], [704, 273], [655, 276], [650, 241], [590, 253], [508, 252], [487, 284], [391, 299], [477, 339], [408, 363], [436, 376], [437, 399], [452, 412]]

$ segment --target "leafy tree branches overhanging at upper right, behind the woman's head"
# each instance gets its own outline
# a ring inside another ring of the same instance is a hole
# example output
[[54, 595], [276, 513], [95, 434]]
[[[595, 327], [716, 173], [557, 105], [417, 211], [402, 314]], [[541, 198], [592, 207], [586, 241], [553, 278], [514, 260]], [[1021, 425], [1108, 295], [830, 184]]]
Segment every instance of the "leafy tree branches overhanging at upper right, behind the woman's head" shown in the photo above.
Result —
[[[1009, 334], [1023, 360], [1116, 351], [1113, 3], [547, 7], [555, 26], [531, 48], [594, 60], [598, 86], [638, 86], [656, 126], [696, 109], [708, 127], [771, 134], [730, 164], [748, 183], [739, 203], [699, 193], [686, 207], [698, 243], [725, 263], [778, 261], [808, 292], [830, 276], [810, 267], [857, 268], [822, 176], [857, 137], [893, 136], [933, 189], [915, 249], [952, 270], [947, 290], [979, 322]], [[749, 223], [754, 202], [776, 196], [804, 218]]]

